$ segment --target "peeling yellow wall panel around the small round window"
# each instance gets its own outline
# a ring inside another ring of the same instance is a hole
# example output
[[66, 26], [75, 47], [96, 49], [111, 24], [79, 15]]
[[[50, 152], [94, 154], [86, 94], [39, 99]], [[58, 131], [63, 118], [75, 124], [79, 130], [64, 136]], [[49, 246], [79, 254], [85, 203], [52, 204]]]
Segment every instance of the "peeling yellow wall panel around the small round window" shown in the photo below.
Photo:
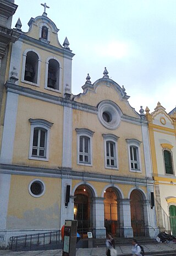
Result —
[[[29, 183], [39, 179], [46, 185], [40, 198], [28, 191]], [[11, 228], [59, 228], [61, 205], [61, 179], [12, 175], [7, 227]]]

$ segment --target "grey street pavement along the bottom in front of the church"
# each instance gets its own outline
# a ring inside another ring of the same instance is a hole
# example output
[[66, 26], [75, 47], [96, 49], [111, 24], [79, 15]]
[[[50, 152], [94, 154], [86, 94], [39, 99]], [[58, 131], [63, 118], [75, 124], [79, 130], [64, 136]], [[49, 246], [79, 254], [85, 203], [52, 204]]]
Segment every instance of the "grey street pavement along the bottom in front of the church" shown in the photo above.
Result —
[[[142, 244], [141, 244], [142, 245]], [[143, 246], [143, 245], [142, 245]], [[176, 256], [176, 243], [152, 243], [144, 244], [145, 256], [147, 255], [172, 255]], [[118, 255], [131, 255], [131, 244], [116, 246]], [[171, 254], [172, 253], [172, 254]], [[62, 249], [56, 250], [32, 250], [13, 252], [11, 250], [0, 250], [0, 256], [62, 256]], [[106, 256], [106, 247], [76, 248], [76, 256]]]

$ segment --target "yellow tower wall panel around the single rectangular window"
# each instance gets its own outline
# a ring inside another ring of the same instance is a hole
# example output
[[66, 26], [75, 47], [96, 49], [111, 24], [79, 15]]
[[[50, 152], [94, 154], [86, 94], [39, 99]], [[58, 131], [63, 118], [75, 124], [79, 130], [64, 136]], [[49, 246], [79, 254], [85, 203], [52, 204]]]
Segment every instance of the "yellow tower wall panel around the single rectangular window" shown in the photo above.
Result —
[[[30, 111], [29, 111], [30, 110]], [[29, 119], [53, 122], [50, 132], [49, 161], [29, 159], [31, 124]], [[17, 124], [14, 140], [13, 164], [57, 168], [62, 165], [63, 107], [41, 100], [19, 96]]]

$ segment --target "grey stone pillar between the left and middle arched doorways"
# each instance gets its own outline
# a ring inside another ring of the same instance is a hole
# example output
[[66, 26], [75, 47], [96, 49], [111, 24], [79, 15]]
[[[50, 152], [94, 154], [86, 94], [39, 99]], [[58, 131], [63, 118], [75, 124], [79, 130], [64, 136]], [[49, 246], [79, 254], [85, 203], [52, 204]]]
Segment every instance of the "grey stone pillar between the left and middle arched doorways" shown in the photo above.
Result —
[[93, 235], [96, 238], [106, 238], [104, 198], [92, 199]]

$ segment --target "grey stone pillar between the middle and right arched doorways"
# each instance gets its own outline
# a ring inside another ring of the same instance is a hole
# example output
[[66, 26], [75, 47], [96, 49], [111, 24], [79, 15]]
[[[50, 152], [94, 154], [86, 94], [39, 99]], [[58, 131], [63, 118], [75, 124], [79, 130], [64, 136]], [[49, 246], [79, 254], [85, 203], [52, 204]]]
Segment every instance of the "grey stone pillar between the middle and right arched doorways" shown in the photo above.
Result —
[[131, 209], [129, 199], [118, 199], [120, 204], [120, 236], [133, 237], [133, 228], [131, 227]]

